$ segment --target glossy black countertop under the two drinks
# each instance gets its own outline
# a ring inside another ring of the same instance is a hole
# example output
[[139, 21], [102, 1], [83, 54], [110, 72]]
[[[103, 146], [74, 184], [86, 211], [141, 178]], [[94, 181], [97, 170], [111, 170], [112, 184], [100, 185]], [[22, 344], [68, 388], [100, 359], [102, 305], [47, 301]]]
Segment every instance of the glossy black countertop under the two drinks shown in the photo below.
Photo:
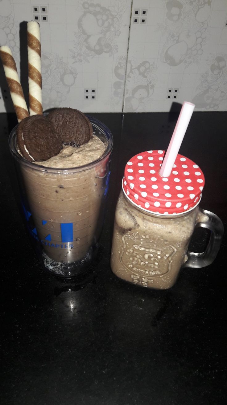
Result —
[[[166, 149], [177, 114], [91, 115], [112, 131], [112, 177], [100, 257], [90, 273], [73, 282], [43, 270], [30, 246], [7, 144], [16, 119], [0, 114], [0, 402], [226, 404], [226, 234], [215, 262], [181, 270], [170, 290], [129, 285], [117, 279], [109, 265], [125, 163], [140, 151]], [[226, 122], [225, 112], [194, 113], [180, 149], [204, 172], [200, 207], [219, 215], [224, 226]], [[200, 251], [204, 237], [199, 237]]]

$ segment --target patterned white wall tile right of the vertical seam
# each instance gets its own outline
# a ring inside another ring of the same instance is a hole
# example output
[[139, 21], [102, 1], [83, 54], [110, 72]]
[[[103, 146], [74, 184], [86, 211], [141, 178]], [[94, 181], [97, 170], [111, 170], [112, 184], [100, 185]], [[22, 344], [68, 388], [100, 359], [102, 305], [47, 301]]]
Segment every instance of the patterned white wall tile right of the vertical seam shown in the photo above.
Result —
[[[146, 5], [146, 24], [131, 23], [124, 111], [169, 111], [173, 101], [184, 100], [201, 111], [226, 110], [227, 49], [221, 46], [227, 44], [227, 2]], [[146, 5], [133, 0], [132, 17]]]

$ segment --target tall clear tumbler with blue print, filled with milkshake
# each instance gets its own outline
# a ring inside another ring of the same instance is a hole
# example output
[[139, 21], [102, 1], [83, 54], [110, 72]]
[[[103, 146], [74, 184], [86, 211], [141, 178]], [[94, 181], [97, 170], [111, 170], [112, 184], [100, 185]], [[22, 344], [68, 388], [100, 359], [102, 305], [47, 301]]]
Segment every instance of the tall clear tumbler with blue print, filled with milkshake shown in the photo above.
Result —
[[98, 160], [80, 167], [56, 169], [28, 162], [17, 151], [16, 128], [9, 137], [35, 250], [44, 267], [62, 277], [90, 266], [104, 221], [113, 139], [104, 124], [89, 118], [106, 150]]

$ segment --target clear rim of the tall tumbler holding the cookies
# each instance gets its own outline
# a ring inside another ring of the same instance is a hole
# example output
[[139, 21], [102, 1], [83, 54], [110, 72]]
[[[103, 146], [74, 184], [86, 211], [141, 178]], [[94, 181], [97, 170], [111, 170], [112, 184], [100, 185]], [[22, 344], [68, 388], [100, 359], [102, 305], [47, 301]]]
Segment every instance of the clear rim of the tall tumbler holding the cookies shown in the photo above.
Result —
[[11, 152], [13, 158], [15, 158], [17, 160], [17, 162], [19, 162], [20, 164], [23, 164], [24, 166], [27, 166], [33, 170], [42, 171], [44, 173], [48, 172], [48, 173], [53, 173], [53, 174], [66, 174], [66, 173], [81, 172], [81, 171], [85, 171], [87, 169], [97, 166], [100, 162], [102, 162], [102, 160], [104, 160], [106, 157], [108, 157], [110, 155], [110, 153], [112, 151], [112, 147], [113, 147], [113, 136], [112, 136], [112, 133], [109, 130], [109, 128], [105, 124], [103, 124], [103, 122], [99, 121], [97, 118], [91, 117], [90, 115], [86, 115], [86, 116], [90, 120], [92, 126], [97, 128], [98, 130], [101, 130], [102, 133], [104, 134], [104, 136], [106, 137], [106, 140], [108, 141], [106, 150], [104, 151], [102, 156], [100, 156], [100, 158], [94, 160], [91, 163], [84, 164], [83, 166], [66, 167], [66, 168], [57, 168], [57, 167], [52, 168], [49, 166], [36, 164], [35, 162], [29, 162], [27, 159], [25, 159], [23, 156], [21, 156], [20, 153], [18, 153], [18, 151], [16, 149], [15, 139], [16, 139], [16, 128], [17, 128], [18, 124], [12, 129], [12, 131], [9, 134], [9, 138], [8, 138], [8, 144], [9, 144], [10, 152]]

